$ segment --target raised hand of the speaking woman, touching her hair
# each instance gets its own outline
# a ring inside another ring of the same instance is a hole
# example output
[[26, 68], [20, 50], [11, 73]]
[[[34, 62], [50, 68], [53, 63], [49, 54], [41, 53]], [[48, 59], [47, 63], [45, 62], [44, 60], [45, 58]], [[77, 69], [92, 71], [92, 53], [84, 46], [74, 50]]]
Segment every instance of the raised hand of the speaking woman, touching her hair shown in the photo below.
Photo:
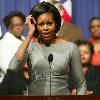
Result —
[[[31, 23], [31, 20], [33, 21], [33, 23]], [[36, 24], [36, 21], [35, 19], [32, 17], [32, 15], [29, 15], [26, 17], [26, 27], [27, 27], [27, 30], [28, 30], [28, 35], [33, 35], [34, 31], [35, 31], [35, 24]]]

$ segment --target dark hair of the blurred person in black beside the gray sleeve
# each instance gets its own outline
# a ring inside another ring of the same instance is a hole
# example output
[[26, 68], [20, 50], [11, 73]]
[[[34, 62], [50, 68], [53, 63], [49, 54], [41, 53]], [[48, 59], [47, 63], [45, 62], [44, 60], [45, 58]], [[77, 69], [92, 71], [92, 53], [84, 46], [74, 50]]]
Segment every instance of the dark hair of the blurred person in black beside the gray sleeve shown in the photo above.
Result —
[[89, 49], [90, 49], [91, 56], [94, 53], [94, 46], [90, 42], [88, 42], [87, 40], [78, 40], [76, 42], [76, 44], [77, 44], [77, 46], [87, 45], [89, 47]]

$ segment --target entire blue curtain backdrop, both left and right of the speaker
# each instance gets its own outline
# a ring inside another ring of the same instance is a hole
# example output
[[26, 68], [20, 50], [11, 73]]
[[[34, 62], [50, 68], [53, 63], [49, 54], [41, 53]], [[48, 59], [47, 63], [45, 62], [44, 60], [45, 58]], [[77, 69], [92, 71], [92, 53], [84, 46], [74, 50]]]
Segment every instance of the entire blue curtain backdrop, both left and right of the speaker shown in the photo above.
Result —
[[[62, 2], [64, 0], [61, 0]], [[2, 23], [3, 17], [12, 10], [22, 11], [28, 15], [29, 10], [39, 0], [0, 0], [0, 25], [3, 34], [6, 29]], [[93, 16], [100, 16], [100, 0], [72, 0], [72, 22], [83, 30], [85, 39], [89, 38], [88, 22]]]

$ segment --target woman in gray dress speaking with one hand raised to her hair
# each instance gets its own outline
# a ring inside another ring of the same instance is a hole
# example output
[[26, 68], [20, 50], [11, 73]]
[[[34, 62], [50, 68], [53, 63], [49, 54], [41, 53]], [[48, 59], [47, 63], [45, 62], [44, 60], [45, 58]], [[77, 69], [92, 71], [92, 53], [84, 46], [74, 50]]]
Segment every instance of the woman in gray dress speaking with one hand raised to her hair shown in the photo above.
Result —
[[[35, 22], [36, 21], [36, 22]], [[34, 23], [33, 23], [34, 22]], [[29, 95], [70, 95], [68, 75], [74, 79], [78, 95], [86, 92], [86, 82], [81, 70], [79, 50], [75, 44], [66, 42], [56, 33], [61, 26], [59, 11], [48, 2], [33, 7], [26, 18], [28, 35], [10, 62], [10, 69], [21, 73], [22, 66], [30, 59]], [[30, 42], [33, 33], [38, 42]], [[49, 55], [53, 61], [49, 64]]]

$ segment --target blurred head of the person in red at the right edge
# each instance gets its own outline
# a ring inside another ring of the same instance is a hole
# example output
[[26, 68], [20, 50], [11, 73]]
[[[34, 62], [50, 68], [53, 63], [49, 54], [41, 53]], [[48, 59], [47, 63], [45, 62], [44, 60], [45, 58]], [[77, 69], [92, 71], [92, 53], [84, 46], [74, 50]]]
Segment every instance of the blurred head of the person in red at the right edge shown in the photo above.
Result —
[[100, 17], [93, 17], [89, 22], [89, 31], [92, 38], [100, 39]]

